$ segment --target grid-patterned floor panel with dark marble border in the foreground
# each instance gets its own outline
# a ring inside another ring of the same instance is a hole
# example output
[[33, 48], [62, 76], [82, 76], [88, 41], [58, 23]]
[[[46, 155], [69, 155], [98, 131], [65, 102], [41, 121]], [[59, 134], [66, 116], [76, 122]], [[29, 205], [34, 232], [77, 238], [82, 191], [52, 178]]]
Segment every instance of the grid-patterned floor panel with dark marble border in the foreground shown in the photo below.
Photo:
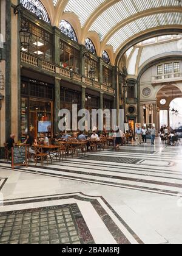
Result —
[[94, 244], [77, 204], [0, 213], [1, 244]]

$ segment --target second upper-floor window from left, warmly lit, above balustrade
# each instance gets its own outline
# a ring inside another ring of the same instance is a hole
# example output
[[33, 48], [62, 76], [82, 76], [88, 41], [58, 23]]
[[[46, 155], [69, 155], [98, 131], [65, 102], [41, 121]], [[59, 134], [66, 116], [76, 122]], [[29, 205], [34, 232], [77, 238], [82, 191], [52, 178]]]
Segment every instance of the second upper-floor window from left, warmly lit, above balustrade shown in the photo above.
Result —
[[79, 74], [79, 51], [60, 40], [60, 66]]

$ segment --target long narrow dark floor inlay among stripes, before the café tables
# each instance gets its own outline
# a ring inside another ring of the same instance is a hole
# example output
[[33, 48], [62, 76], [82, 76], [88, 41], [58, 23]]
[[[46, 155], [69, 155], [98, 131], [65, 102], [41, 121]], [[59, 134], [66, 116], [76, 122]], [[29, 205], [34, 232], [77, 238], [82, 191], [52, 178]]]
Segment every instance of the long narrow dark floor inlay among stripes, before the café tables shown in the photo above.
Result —
[[126, 158], [126, 157], [110, 157], [105, 155], [87, 155], [83, 157], [85, 160], [100, 161], [100, 162], [113, 162], [113, 163], [138, 163], [142, 159], [139, 158]]

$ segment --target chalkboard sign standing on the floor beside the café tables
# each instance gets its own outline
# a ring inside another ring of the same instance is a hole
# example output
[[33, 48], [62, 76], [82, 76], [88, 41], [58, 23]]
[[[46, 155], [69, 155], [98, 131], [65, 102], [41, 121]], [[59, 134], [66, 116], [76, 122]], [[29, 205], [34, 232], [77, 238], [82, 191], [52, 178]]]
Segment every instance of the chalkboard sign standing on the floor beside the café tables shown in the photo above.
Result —
[[27, 166], [26, 146], [14, 146], [12, 148], [12, 168], [14, 166]]

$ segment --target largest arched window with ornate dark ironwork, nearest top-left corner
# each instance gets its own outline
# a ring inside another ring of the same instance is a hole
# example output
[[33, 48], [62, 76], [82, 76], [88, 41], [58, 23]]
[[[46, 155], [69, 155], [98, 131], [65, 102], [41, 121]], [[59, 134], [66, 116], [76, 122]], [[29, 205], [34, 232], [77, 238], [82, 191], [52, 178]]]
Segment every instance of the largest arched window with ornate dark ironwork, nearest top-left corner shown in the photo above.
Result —
[[44, 5], [39, 0], [21, 0], [20, 1], [22, 6], [38, 16], [38, 18], [41, 20], [44, 20], [47, 23], [50, 23], [50, 18], [47, 13], [47, 10], [45, 10]]

